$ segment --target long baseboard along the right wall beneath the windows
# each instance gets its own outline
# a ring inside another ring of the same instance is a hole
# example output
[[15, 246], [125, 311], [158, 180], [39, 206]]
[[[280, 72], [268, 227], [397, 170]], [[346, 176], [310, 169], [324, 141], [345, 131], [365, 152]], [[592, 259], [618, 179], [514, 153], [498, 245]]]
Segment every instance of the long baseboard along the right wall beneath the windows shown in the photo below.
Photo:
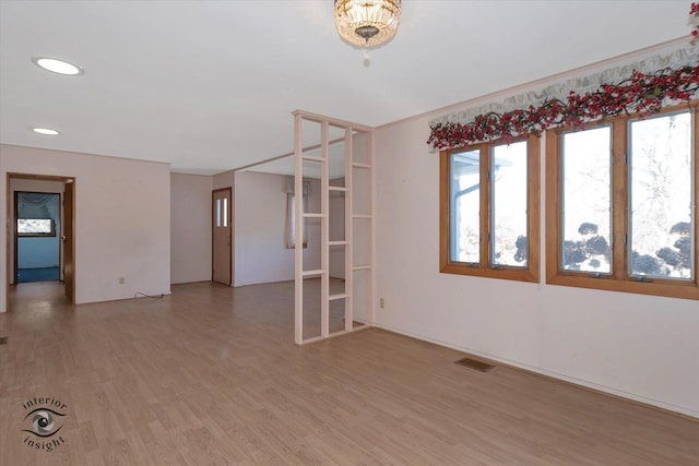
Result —
[[533, 366], [528, 366], [528, 365], [523, 365], [521, 362], [518, 361], [512, 361], [509, 359], [505, 359], [505, 358], [500, 358], [498, 356], [495, 355], [490, 355], [488, 353], [484, 353], [484, 351], [478, 351], [476, 349], [473, 348], [467, 348], [464, 346], [459, 346], [459, 345], [452, 345], [450, 343], [447, 342], [442, 342], [436, 338], [430, 338], [428, 336], [425, 335], [418, 335], [418, 334], [414, 334], [411, 332], [405, 332], [402, 331], [400, 328], [395, 328], [392, 327], [390, 325], [382, 325], [382, 324], [378, 324], [375, 323], [374, 324], [375, 327], [377, 328], [381, 328], [391, 333], [395, 333], [399, 335], [403, 335], [403, 336], [407, 336], [411, 338], [415, 338], [415, 339], [420, 339], [423, 342], [429, 342], [429, 343], [434, 343], [435, 345], [438, 346], [443, 346], [447, 348], [451, 348], [451, 349], [455, 349], [458, 351], [462, 351], [465, 353], [466, 355], [471, 355], [471, 356], [476, 356], [478, 358], [485, 359], [489, 362], [496, 363], [496, 365], [500, 365], [500, 366], [506, 366], [509, 367], [511, 369], [517, 369], [517, 370], [521, 370], [528, 373], [532, 373], [532, 374], [536, 374], [536, 375], [541, 375], [541, 377], [545, 377], [548, 379], [554, 379], [556, 381], [559, 382], [564, 382], [564, 383], [569, 383], [571, 385], [574, 385], [580, 389], [585, 389], [585, 390], [590, 390], [592, 392], [595, 393], [600, 393], [603, 395], [607, 395], [607, 396], [613, 396], [615, 398], [619, 398], [619, 399], [624, 399], [626, 402], [630, 402], [637, 405], [641, 405], [644, 406], [647, 408], [651, 408], [651, 409], [657, 409], [674, 416], [680, 416], [683, 418], [687, 418], [690, 419], [692, 421], [697, 421], [699, 422], [699, 411], [695, 411], [692, 409], [687, 409], [683, 406], [676, 406], [670, 403], [664, 403], [661, 402], [659, 399], [653, 399], [653, 398], [647, 398], [644, 396], [639, 396], [636, 395], [633, 393], [628, 393], [628, 392], [624, 392], [620, 390], [616, 390], [609, 386], [605, 386], [605, 385], [600, 385], [593, 382], [588, 382], [585, 380], [582, 379], [577, 379], [570, 375], [566, 375], [566, 374], [561, 374], [558, 372], [554, 372], [554, 371], [548, 371], [546, 369], [541, 369], [541, 368], [536, 368]]

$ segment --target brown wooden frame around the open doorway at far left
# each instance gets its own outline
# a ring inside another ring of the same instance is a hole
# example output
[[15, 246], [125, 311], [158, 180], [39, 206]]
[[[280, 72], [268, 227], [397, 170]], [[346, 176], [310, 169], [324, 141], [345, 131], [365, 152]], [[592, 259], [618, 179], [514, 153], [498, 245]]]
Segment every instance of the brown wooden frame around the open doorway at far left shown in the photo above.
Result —
[[[72, 196], [72, 202], [73, 202], [73, 215], [72, 218], [67, 219], [67, 218], [61, 218], [61, 231], [58, 232], [57, 235], [62, 236], [63, 232], [63, 228], [66, 225], [66, 222], [71, 222], [72, 227], [73, 227], [73, 236], [75, 236], [75, 177], [61, 177], [61, 176], [56, 176], [56, 175], [39, 175], [39, 174], [21, 174], [21, 172], [10, 172], [8, 171], [7, 174], [7, 179], [5, 179], [5, 186], [7, 186], [7, 213], [8, 213], [8, 218], [10, 217], [10, 211], [11, 211], [11, 203], [14, 203], [14, 196], [12, 195], [12, 187], [11, 187], [11, 182], [13, 179], [22, 179], [22, 180], [37, 180], [37, 181], [60, 181], [62, 183], [72, 183], [73, 184], [73, 196]], [[61, 195], [61, 205], [60, 205], [60, 211], [61, 211], [61, 216], [63, 216], [63, 202], [66, 202], [64, 200], [66, 198], [66, 193], [63, 192], [63, 195]], [[7, 299], [7, 307], [8, 307], [8, 311], [11, 311], [10, 309], [10, 277], [12, 276], [11, 273], [13, 272], [12, 270], [10, 270], [10, 241], [14, 242], [14, 263], [12, 264], [12, 268], [16, 268], [16, 239], [17, 239], [17, 235], [16, 235], [16, 215], [17, 213], [13, 210], [14, 215], [11, 218], [11, 222], [8, 222], [7, 224], [7, 229], [5, 229], [5, 258], [8, 258], [8, 261], [5, 261], [5, 283], [4, 283], [4, 287], [5, 287], [5, 299]], [[71, 251], [71, 259], [72, 259], [72, 263], [73, 263], [73, 279], [71, 283], [71, 289], [70, 290], [66, 290], [67, 295], [70, 296], [70, 300], [71, 303], [75, 303], [75, 250], [76, 250], [76, 242], [75, 239], [73, 238], [73, 248]], [[64, 249], [62, 247], [62, 242], [60, 243], [60, 265], [59, 267], [61, 267], [61, 272], [62, 272], [62, 266], [66, 262], [66, 256], [64, 256]], [[62, 277], [63, 280], [63, 286], [66, 286], [66, 277]], [[16, 282], [16, 273], [14, 274], [14, 282]], [[16, 286], [16, 283], [14, 284]], [[68, 292], [70, 291], [70, 292]]]

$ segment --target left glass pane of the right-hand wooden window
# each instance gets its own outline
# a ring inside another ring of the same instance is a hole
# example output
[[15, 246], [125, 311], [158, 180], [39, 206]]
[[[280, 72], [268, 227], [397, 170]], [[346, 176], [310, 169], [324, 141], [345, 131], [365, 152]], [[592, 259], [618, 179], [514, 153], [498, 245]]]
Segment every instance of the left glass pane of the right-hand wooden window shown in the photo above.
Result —
[[562, 270], [612, 272], [611, 136], [609, 127], [562, 136]]

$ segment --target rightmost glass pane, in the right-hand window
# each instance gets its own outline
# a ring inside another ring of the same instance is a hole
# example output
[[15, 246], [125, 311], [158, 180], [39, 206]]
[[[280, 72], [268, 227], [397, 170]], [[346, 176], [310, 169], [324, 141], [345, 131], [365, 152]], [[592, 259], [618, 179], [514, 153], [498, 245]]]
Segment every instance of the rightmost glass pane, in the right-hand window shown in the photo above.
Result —
[[630, 124], [629, 271], [692, 278], [691, 116]]

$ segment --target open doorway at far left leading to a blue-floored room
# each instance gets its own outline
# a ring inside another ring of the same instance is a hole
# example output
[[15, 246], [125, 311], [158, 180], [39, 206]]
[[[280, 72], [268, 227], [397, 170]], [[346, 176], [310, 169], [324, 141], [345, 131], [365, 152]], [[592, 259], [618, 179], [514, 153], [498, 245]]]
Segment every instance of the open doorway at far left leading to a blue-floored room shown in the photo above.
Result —
[[[8, 174], [7, 296], [10, 296], [10, 286], [16, 291], [19, 287], [36, 285], [27, 282], [48, 278], [56, 285], [42, 288], [64, 295], [70, 303], [74, 302], [74, 186], [72, 177]], [[51, 204], [54, 201], [56, 204]], [[42, 249], [47, 248], [56, 248], [52, 255], [38, 259]], [[25, 280], [22, 270], [26, 268], [48, 268], [35, 272], [52, 275]]]

